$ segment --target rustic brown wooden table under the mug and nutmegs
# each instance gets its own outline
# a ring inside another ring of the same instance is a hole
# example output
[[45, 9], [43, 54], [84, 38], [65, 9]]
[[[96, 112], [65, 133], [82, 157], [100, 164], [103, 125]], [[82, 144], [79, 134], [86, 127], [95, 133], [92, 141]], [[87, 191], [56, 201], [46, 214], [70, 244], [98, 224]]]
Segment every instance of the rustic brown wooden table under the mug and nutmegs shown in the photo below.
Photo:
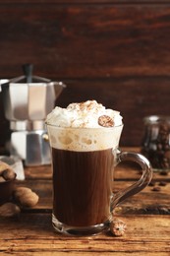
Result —
[[[25, 170], [26, 180], [18, 181], [17, 185], [35, 191], [39, 202], [33, 209], [22, 211], [19, 218], [0, 219], [0, 254], [170, 255], [169, 173], [154, 173], [149, 186], [116, 208], [115, 216], [127, 224], [123, 236], [107, 232], [90, 237], [66, 237], [56, 234], [51, 225], [51, 166]], [[115, 189], [129, 186], [140, 175], [138, 166], [117, 167]]]

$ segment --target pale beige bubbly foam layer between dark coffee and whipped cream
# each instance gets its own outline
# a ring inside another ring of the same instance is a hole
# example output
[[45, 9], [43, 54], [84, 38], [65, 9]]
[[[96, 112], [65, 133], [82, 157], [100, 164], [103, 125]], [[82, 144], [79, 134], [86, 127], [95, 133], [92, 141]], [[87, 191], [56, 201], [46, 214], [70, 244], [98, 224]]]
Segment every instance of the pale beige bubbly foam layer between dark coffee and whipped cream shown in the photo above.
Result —
[[59, 128], [47, 125], [52, 148], [77, 152], [116, 149], [123, 126], [113, 128]]

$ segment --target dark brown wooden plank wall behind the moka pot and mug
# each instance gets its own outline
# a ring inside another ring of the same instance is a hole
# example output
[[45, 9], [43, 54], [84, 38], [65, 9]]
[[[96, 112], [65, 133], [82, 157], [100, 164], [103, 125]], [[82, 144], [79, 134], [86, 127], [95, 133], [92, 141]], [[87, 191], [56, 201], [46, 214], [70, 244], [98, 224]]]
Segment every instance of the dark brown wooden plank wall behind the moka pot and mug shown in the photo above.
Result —
[[[121, 146], [140, 146], [142, 118], [170, 114], [169, 0], [0, 0], [0, 78], [61, 80], [57, 104], [93, 99], [124, 116]], [[0, 145], [9, 137], [0, 96]]]

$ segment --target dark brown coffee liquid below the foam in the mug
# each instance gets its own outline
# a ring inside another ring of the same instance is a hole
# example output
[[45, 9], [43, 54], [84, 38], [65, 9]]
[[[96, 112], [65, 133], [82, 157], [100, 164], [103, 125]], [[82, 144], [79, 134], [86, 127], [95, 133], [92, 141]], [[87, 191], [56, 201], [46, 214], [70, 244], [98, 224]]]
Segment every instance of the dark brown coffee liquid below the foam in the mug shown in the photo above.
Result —
[[109, 219], [113, 181], [112, 149], [73, 152], [52, 148], [53, 214], [68, 225]]

